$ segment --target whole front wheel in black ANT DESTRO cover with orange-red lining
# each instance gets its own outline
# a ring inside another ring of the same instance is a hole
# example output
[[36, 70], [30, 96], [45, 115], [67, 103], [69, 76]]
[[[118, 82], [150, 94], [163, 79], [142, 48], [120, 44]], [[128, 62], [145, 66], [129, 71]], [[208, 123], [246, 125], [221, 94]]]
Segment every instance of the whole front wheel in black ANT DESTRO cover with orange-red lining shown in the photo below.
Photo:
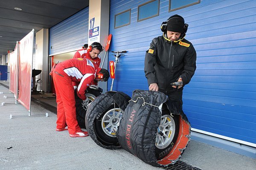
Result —
[[135, 90], [116, 136], [121, 147], [147, 164], [175, 164], [190, 141], [190, 123], [182, 102], [157, 91]]

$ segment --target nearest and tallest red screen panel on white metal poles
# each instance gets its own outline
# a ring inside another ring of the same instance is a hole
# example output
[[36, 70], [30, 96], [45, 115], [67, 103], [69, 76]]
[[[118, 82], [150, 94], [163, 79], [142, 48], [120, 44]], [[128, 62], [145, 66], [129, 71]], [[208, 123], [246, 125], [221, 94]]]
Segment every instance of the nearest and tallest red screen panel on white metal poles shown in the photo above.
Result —
[[18, 101], [30, 110], [34, 29], [19, 42]]

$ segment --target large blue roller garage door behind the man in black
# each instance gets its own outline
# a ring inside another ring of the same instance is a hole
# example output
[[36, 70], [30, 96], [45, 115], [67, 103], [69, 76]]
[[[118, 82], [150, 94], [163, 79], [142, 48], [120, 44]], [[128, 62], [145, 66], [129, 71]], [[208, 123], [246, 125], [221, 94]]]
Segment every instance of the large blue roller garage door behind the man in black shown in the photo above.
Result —
[[[148, 2], [111, 0], [109, 51], [127, 50], [116, 68], [114, 91], [148, 89], [145, 51], [160, 36], [160, 25], [180, 14], [186, 39], [197, 51], [197, 70], [183, 91], [183, 110], [192, 128], [256, 144], [256, 3], [254, 0], [201, 0], [169, 12], [160, 0], [159, 16], [137, 22], [138, 6]], [[115, 27], [115, 15], [131, 9], [131, 22]], [[109, 52], [109, 60], [114, 60]], [[111, 80], [108, 82], [110, 89]]]

